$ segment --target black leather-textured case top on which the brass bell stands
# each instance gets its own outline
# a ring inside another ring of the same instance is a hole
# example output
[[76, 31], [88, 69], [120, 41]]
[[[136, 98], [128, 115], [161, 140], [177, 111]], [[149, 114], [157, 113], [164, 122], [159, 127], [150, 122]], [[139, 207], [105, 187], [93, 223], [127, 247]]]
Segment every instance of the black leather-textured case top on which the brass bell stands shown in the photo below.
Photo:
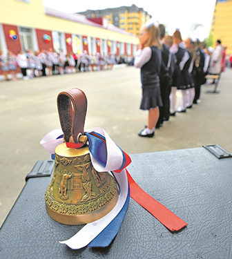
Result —
[[168, 231], [131, 199], [109, 247], [72, 250], [58, 241], [83, 226], [52, 220], [44, 201], [51, 177], [29, 178], [1, 227], [0, 258], [232, 258], [232, 158], [218, 159], [203, 147], [131, 158], [135, 182], [187, 227]]

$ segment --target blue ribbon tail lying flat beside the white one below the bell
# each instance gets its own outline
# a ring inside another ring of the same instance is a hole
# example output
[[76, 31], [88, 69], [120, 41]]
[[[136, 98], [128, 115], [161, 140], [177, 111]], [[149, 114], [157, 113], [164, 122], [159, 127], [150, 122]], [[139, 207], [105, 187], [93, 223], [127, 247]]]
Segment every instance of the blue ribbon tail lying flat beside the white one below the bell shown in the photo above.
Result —
[[126, 211], [128, 209], [129, 201], [130, 189], [128, 189], [128, 195], [124, 207], [118, 213], [117, 217], [112, 220], [110, 224], [108, 224], [108, 226], [103, 231], [101, 231], [101, 233], [99, 233], [99, 235], [92, 242], [90, 242], [90, 244], [88, 244], [88, 247], [108, 247], [110, 245], [122, 225]]

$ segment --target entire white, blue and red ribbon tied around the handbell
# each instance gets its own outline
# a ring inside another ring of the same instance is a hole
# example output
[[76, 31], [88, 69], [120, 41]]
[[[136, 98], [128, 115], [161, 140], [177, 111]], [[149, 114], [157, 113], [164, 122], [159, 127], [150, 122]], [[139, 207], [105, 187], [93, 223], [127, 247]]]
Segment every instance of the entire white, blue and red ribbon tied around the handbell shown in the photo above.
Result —
[[[72, 249], [80, 249], [87, 245], [88, 247], [107, 247], [119, 231], [130, 196], [171, 231], [178, 231], [187, 225], [136, 184], [126, 170], [126, 166], [131, 163], [131, 157], [110, 139], [103, 128], [93, 128], [85, 134], [88, 137], [93, 167], [99, 172], [111, 171], [113, 173], [119, 184], [119, 198], [113, 210], [107, 215], [86, 224], [75, 236], [60, 242], [61, 244], [66, 244]], [[56, 146], [63, 142], [61, 135], [61, 130], [51, 131], [41, 140], [42, 146], [54, 154]]]

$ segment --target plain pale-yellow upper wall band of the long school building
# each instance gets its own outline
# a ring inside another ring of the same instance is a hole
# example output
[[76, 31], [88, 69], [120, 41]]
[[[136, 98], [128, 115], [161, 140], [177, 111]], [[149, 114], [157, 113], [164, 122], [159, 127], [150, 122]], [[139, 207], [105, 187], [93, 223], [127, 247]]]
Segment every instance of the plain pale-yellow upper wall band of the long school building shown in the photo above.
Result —
[[1, 0], [0, 23], [43, 30], [57, 30], [59, 32], [75, 33], [89, 37], [110, 39], [112, 41], [139, 44], [139, 39], [137, 37], [122, 35], [103, 28], [93, 28], [92, 26], [81, 23], [50, 17], [46, 15], [43, 10], [42, 0], [30, 0], [30, 3], [17, 0]]

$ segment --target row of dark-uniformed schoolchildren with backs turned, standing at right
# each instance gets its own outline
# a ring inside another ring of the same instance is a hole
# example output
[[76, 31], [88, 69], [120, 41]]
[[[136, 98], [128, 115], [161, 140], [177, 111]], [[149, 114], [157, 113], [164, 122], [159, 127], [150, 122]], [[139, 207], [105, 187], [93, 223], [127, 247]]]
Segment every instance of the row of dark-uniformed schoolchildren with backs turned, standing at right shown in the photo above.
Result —
[[[140, 46], [134, 65], [141, 69], [142, 102], [148, 111], [148, 124], [138, 133], [153, 137], [155, 128], [176, 113], [186, 113], [200, 103], [202, 84], [206, 75], [220, 75], [226, 66], [225, 48], [218, 39], [215, 49], [188, 37], [183, 40], [180, 29], [166, 35], [165, 26], [153, 19], [140, 30]], [[176, 108], [177, 90], [182, 92], [182, 104]]]

